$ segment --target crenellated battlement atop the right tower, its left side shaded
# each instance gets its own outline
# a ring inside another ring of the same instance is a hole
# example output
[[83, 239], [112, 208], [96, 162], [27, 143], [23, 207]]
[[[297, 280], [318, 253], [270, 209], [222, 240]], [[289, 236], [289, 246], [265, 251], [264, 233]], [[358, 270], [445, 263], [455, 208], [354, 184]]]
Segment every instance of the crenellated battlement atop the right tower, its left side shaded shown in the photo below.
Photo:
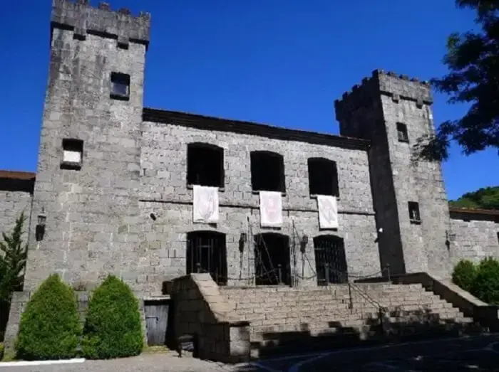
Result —
[[354, 85], [350, 92], [345, 92], [341, 100], [334, 101], [336, 118], [341, 121], [345, 115], [359, 107], [369, 105], [375, 97], [388, 95], [393, 102], [399, 100], [415, 101], [418, 107], [431, 105], [431, 84], [407, 75], [398, 75], [392, 71], [374, 70], [371, 77], [364, 78], [360, 85]]

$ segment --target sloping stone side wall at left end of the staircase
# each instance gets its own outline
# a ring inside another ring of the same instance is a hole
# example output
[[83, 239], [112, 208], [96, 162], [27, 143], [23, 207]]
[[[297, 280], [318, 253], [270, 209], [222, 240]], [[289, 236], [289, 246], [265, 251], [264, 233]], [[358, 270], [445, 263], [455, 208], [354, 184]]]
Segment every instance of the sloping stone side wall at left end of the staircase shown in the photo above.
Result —
[[191, 274], [173, 281], [175, 337], [195, 337], [202, 359], [238, 363], [249, 360], [249, 321], [238, 319], [210, 274]]

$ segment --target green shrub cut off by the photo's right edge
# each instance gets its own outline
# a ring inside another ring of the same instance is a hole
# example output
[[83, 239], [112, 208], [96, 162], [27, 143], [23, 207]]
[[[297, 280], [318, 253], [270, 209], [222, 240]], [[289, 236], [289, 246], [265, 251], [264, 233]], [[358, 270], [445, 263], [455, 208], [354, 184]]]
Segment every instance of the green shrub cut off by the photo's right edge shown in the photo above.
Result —
[[499, 304], [499, 261], [485, 258], [478, 265], [471, 294], [488, 304]]

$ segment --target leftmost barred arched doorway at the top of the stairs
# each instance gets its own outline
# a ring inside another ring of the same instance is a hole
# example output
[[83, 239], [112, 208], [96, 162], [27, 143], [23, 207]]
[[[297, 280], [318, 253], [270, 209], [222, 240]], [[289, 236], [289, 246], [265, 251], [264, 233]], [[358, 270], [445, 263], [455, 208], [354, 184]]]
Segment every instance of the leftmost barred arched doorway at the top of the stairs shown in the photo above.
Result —
[[217, 285], [227, 285], [225, 234], [217, 231], [187, 233], [187, 274], [209, 272]]

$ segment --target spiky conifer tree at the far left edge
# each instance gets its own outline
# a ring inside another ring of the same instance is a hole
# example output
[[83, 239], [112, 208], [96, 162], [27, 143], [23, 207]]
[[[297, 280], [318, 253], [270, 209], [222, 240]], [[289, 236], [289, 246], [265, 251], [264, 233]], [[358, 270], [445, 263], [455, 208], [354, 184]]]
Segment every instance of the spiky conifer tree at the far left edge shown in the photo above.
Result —
[[21, 290], [24, 282], [24, 267], [28, 244], [24, 244], [24, 223], [26, 216], [16, 219], [16, 225], [11, 234], [3, 233], [4, 241], [0, 242], [0, 340], [9, 317], [12, 292]]

